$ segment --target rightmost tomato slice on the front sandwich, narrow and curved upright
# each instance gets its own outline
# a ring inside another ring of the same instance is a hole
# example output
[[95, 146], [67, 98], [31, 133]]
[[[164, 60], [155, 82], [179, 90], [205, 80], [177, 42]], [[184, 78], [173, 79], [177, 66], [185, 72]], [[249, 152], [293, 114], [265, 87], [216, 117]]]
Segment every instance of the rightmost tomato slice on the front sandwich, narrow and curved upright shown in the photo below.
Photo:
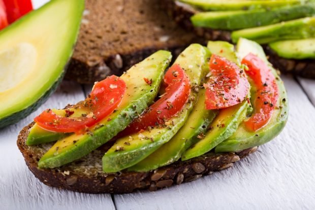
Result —
[[254, 114], [245, 121], [249, 130], [256, 131], [266, 125], [272, 115], [279, 96], [278, 86], [268, 65], [256, 55], [249, 53], [242, 63], [248, 66], [249, 71], [246, 74], [257, 87]]

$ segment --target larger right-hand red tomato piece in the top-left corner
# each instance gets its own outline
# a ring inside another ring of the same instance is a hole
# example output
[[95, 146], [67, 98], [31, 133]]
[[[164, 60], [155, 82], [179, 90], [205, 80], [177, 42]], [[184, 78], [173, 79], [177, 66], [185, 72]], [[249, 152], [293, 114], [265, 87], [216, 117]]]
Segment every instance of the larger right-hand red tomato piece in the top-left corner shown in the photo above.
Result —
[[4, 0], [7, 8], [8, 21], [13, 23], [29, 11], [33, 10], [31, 0]]

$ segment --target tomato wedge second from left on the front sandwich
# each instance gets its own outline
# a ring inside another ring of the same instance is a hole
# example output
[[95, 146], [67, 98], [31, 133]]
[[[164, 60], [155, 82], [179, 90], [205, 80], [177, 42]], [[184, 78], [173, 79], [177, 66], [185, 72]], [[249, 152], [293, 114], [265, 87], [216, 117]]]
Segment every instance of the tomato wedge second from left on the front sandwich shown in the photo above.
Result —
[[164, 125], [164, 122], [182, 110], [191, 92], [190, 81], [178, 65], [171, 66], [164, 76], [167, 85], [162, 97], [153, 103], [139, 118], [119, 133], [125, 136], [148, 127]]

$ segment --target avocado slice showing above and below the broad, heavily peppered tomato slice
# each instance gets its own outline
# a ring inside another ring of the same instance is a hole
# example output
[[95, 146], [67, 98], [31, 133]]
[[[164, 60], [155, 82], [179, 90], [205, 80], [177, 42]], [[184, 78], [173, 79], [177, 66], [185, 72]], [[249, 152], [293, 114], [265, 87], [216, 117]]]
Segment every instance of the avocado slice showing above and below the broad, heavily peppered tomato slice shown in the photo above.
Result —
[[[240, 65], [233, 45], [222, 41], [210, 41], [207, 47], [212, 54], [226, 57], [230, 61]], [[209, 125], [210, 130], [204, 134], [199, 142], [182, 154], [181, 160], [201, 156], [230, 137], [236, 131], [239, 124], [245, 119], [248, 107], [248, 102], [244, 100], [236, 106], [219, 110], [219, 114]]]

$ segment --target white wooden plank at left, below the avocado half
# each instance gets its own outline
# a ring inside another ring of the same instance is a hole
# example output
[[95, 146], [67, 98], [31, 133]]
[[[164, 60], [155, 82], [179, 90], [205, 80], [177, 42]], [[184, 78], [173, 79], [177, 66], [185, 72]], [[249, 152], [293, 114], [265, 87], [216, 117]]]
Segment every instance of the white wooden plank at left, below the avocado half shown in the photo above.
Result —
[[63, 82], [38, 111], [0, 130], [0, 209], [115, 209], [110, 194], [74, 193], [42, 184], [28, 170], [16, 146], [19, 131], [43, 110], [63, 108], [84, 98], [80, 85]]

